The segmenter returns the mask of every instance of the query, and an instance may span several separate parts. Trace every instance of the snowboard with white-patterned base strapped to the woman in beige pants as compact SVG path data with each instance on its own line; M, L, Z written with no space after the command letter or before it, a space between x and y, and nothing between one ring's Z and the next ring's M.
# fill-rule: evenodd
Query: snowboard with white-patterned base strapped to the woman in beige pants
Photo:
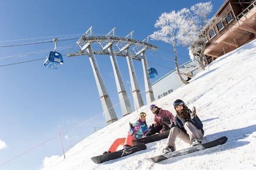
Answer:
M167 153L167 154L163 154L163 155L158 155L155 157L151 157L151 158L146 158L147 160L149 160L150 162L154 162L154 163L158 163L161 162L162 160L165 159L169 159L172 157L176 157L176 156L181 156L181 155L186 155L189 154L191 152L196 152L199 150L204 150L206 148L211 148L211 147L215 147L218 145L222 145L224 143L226 143L226 141L228 140L227 137L221 137L219 139L207 142L207 143L202 143L201 145L196 145L190 148L186 148L186 149L182 149L182 150L178 150L178 151L174 151L171 153Z

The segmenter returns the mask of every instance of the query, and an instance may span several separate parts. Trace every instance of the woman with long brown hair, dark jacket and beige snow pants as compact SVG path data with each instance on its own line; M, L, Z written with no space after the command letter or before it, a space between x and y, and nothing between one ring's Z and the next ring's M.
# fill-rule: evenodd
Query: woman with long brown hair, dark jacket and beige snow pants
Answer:
M175 139L177 136L190 143L191 146L195 146L202 143L204 135L203 124L196 114L195 107L190 111L180 99L175 100L173 106L177 115L174 118L174 123L171 124L167 147L163 150L164 153L175 151Z

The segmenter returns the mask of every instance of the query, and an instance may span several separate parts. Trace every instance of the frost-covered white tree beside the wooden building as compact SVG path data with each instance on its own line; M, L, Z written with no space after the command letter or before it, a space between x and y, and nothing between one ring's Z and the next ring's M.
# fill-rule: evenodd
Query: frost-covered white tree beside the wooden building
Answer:
M184 80L181 77L178 66L178 54L177 54L177 45L191 46L191 54L195 54L195 59L198 56L196 48L204 48L205 46L201 45L202 39L206 42L205 36L202 35L202 29L206 24L206 16L212 11L211 2L198 3L188 8L183 8L182 10L170 13L162 13L156 20L155 27L159 30L155 31L151 38L155 40L162 40L165 43L169 43L173 46L174 55L175 55L175 67L178 72L178 75L181 81L185 84L188 84L188 81ZM206 43L205 43L206 44ZM204 69L204 67L203 67Z

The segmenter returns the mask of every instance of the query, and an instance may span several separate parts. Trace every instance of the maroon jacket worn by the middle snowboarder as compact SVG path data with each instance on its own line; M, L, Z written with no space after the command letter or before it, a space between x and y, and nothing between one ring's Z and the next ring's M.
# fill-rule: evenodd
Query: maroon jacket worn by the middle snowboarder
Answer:
M174 116L169 111L163 110L162 108L158 108L158 109L159 109L159 112L158 112L158 114L155 114L154 124L155 124L155 126L163 126L162 130L160 130L160 133L161 133L161 132L164 132L164 131L170 129L169 126L163 122L163 117L170 119L171 123L173 123Z

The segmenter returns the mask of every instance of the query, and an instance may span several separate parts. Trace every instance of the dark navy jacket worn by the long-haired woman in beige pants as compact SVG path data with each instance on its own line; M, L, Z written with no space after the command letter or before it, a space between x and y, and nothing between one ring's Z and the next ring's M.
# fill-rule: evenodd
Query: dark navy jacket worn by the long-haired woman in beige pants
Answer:
M188 113L189 113L189 115L191 114L190 109L188 109ZM201 120L199 119L199 117L197 115L194 118L190 117L190 120L188 120L188 119L185 120L183 118L179 118L178 116L175 116L174 123L171 125L171 128L174 127L174 126L179 126L179 128L181 130L186 132L186 130L184 128L184 124L185 124L185 122L188 122L188 121L193 123L196 126L196 128L201 130L202 134L204 134L203 123L201 122Z

